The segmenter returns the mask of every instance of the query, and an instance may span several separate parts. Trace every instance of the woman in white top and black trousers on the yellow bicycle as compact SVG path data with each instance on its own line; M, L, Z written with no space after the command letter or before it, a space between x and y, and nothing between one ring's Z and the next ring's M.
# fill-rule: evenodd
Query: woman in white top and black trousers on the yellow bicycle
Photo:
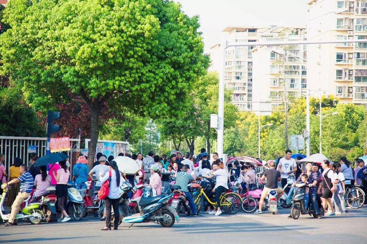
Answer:
M215 200L217 201L217 209L214 208L213 211L209 212L209 214L219 215L222 213L221 207L220 207L221 202L220 202L219 196L222 194L222 192L228 190L227 183L228 183L229 173L227 170L224 169L224 164L222 162L219 162L218 165L213 163L212 169L213 171L210 172L210 176L205 177L205 178L213 178L216 176L217 182L212 192L215 192Z

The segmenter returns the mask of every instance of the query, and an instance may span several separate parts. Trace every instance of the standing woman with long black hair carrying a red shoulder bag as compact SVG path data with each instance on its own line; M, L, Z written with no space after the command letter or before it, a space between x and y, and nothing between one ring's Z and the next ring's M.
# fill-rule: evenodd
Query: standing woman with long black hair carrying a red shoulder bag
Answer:
M106 227L101 230L110 230L111 229L111 206L113 207L113 212L115 214L115 226L114 230L117 230L117 227L119 226L119 202L120 202L120 180L121 180L121 174L119 171L119 168L117 167L117 164L115 161L111 161L110 163L110 169L109 171L102 176L99 176L99 180L102 182L105 182L110 178L111 175L111 181L110 181L110 192L108 193L108 196L105 199L105 207L106 207Z

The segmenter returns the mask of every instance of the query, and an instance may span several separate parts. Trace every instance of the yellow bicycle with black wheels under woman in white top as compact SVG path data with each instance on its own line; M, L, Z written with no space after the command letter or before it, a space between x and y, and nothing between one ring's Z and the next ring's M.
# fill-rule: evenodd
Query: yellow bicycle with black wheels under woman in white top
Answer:
M209 179L208 179L209 180ZM212 180L211 180L212 182ZM209 197L205 194L205 190L208 188L209 185L206 186L205 189L200 188L200 192L198 195L195 196L194 203L196 206L201 205L203 203L203 196L205 199L210 203L214 208L217 208L217 202L212 202ZM221 210L223 210L226 214L237 214L241 208L241 196L234 192L223 192L219 196L220 204L219 206Z

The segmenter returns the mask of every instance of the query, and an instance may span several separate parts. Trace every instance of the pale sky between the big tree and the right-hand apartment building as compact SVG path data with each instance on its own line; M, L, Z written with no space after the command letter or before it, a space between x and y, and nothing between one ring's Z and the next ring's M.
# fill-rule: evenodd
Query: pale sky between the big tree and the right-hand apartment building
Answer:
M205 52L224 40L227 26L306 27L306 0L174 0L188 16L199 15Z

